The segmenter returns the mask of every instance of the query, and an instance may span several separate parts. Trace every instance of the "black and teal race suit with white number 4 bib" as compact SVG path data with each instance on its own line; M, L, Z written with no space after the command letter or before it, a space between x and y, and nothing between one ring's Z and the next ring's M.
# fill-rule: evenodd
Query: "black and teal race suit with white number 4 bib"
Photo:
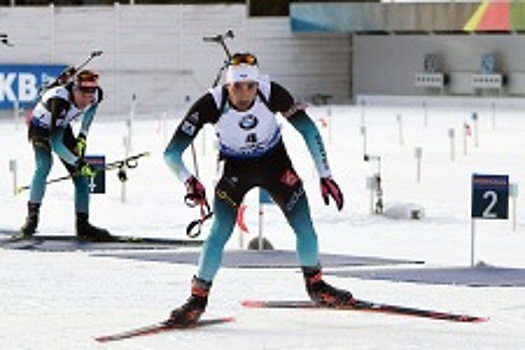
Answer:
M227 90L210 89L190 107L175 131L164 158L179 180L191 176L182 154L204 124L215 127L223 173L213 198L214 221L200 256L197 277L212 281L220 268L224 246L230 238L239 205L253 187L267 190L280 207L297 237L302 266L318 265L317 234L308 200L282 140L276 118L280 113L303 136L321 177L330 176L325 147L315 123L284 87L260 80L257 95L246 111L228 102Z

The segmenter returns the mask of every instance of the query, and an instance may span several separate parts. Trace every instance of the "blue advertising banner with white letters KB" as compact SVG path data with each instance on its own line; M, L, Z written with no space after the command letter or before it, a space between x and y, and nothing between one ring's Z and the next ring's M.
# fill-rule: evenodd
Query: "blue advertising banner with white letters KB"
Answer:
M39 89L67 68L64 64L0 64L0 109L31 106Z

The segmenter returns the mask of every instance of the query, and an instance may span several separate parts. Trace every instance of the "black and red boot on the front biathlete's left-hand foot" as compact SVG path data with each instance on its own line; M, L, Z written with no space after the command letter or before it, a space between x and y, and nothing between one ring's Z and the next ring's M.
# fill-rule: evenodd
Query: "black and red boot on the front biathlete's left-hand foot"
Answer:
M181 307L171 312L166 324L171 327L186 327L197 323L208 304L210 288L211 282L193 277L190 297Z

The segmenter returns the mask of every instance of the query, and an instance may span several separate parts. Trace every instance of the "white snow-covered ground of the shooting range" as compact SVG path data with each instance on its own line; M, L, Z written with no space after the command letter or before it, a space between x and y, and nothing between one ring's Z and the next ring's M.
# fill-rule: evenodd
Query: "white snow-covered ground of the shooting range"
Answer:
M342 212L324 206L306 148L283 122L285 140L307 187L322 253L425 261L417 268L469 267L472 258L476 264L525 268L521 196L516 200L517 214L510 220L476 221L471 254L472 174L504 174L511 183L525 183L525 123L519 110L334 106L330 112L321 107L310 112L322 129L334 177L346 200ZM479 115L477 124L473 112ZM466 142L465 122L473 133ZM119 159L125 153L124 138L131 135L131 153L150 151L151 156L129 171L125 198L115 173L107 174L107 193L92 196L94 224L115 234L185 238L186 225L198 212L184 205L183 186L162 159L176 124L175 117L135 118L129 133L125 121L99 116L88 153L104 154L108 161ZM13 195L10 169L16 162L17 185L29 183L33 160L25 132L21 122L0 121L0 230L16 230L26 214L28 193ZM199 172L210 193L216 179L214 145L213 129L208 128L195 142ZM381 159L385 203L401 209L423 208L421 220L371 214L367 178L378 163L375 158L363 161L364 152ZM57 160L50 178L63 174ZM48 187L40 232L72 232L72 194L69 181ZM259 230L257 200L255 191L246 199L250 233L243 247ZM264 237L276 248L293 250L294 235L279 211L268 205L264 210ZM208 227L209 223L205 230ZM240 245L235 232L228 249ZM244 309L243 299L306 298L302 276L298 269L229 268L222 269L214 281L205 317L234 316L237 322L98 344L94 336L165 318L188 296L195 267L91 253L0 250L0 348L521 349L525 344L523 287L326 276L361 298L490 317L487 323L457 324L361 312Z

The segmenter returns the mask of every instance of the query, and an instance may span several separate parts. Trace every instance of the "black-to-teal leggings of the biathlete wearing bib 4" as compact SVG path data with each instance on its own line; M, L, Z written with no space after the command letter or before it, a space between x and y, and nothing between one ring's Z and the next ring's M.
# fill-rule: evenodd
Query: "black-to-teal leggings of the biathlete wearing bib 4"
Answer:
M254 159L227 159L215 188L214 220L205 240L197 277L212 281L222 262L224 246L237 218L244 195L254 187L267 190L283 212L296 235L297 257L301 266L314 267L318 261L317 234L303 183L295 172L284 145Z

